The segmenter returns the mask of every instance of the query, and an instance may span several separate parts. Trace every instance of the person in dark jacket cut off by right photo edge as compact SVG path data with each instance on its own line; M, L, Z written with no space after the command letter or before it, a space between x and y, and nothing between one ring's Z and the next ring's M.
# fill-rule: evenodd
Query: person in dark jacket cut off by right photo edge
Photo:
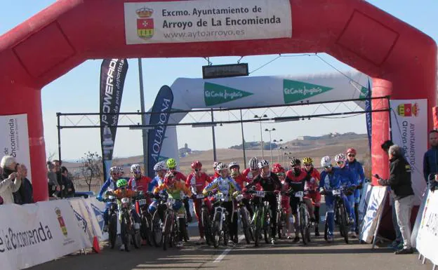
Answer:
M425 152L423 158L423 175L426 183L434 190L434 179L438 174L438 130L430 130L429 142L431 148Z

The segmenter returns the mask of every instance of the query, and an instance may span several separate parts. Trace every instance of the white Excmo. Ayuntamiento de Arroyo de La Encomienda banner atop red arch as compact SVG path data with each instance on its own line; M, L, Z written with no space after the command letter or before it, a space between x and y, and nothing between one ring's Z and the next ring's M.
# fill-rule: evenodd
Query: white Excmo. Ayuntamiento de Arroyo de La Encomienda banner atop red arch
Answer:
M125 3L124 14L126 44L292 36L289 0Z

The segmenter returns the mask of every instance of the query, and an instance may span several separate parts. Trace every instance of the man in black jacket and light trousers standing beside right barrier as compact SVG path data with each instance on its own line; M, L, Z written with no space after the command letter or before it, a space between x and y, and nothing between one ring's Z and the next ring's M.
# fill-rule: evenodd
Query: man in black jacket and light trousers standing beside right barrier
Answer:
M411 210L413 206L413 189L411 182L411 166L404 158L403 150L394 144L388 150L390 156L390 178L383 180L378 175L378 184L390 186L394 196L394 207L397 215L397 224L403 237L403 248L395 254L412 254L411 246Z

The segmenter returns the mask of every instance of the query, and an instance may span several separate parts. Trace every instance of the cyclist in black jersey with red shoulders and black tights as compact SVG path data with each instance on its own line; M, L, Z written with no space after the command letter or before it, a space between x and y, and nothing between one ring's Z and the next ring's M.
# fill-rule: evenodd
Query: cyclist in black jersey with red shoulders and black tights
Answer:
M291 170L288 170L286 173L286 182L289 185L289 188L295 193L297 191L304 191L305 182L310 180L309 175L307 175L306 171L301 168L301 161L298 158L292 158L291 160ZM316 222L314 217L314 210L312 205L312 200L308 197L303 198L304 203L307 205L307 210L310 215L310 222ZM300 241L300 220L298 219L298 203L300 203L300 198L296 198L295 196L291 196L291 210L293 216L295 217L295 238L293 239L293 243L298 243Z

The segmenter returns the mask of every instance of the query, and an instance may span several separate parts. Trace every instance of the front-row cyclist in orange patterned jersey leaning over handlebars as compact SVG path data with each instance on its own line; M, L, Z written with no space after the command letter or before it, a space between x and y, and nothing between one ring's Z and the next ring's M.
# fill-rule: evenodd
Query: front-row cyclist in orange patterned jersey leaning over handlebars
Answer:
M158 187L154 188L154 194L158 196L159 191L166 190L169 198L175 199L175 203L172 205L173 210L175 212L178 212L178 214L184 214L185 209L183 208L183 201L181 201L181 193L186 194L187 196L192 196L192 191L188 187L186 187L185 183L178 180L175 175L173 175L172 172L166 173L166 176L164 177L164 183L160 184ZM185 226L185 224L182 224L182 226ZM180 228L178 228L179 231L181 231ZM178 239L177 247L182 248L183 247L183 235L180 234Z

